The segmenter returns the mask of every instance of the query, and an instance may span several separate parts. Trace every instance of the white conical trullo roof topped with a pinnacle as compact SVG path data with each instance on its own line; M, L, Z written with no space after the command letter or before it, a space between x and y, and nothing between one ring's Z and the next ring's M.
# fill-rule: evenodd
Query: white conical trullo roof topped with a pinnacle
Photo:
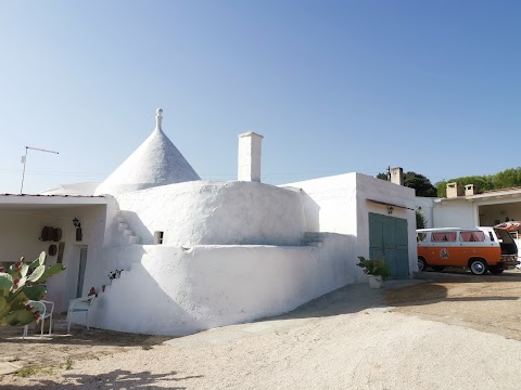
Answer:
M201 180L162 129L163 109L157 109L156 127L103 183L96 195L117 195L158 185Z

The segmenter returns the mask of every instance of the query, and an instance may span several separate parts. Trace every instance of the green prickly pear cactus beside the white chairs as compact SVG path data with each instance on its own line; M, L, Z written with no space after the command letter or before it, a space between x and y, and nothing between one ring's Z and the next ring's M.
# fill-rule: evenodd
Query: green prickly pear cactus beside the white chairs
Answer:
M65 270L62 264L46 268L46 252L33 262L21 258L8 270L0 266L0 326L24 326L39 321L40 313L29 300L40 300L47 294L43 283Z

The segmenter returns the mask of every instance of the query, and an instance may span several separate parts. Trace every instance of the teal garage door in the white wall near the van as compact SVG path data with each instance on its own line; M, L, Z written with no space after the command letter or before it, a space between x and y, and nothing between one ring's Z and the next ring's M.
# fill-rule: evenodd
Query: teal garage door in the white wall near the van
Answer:
M369 257L384 258L392 278L409 277L407 220L369 212Z

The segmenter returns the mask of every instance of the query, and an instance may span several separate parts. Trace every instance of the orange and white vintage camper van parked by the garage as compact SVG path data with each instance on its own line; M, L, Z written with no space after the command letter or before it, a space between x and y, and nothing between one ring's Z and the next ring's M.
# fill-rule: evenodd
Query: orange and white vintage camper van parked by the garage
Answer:
M431 266L469 268L474 275L500 274L519 264L518 247L510 233L495 227L419 229L418 270Z

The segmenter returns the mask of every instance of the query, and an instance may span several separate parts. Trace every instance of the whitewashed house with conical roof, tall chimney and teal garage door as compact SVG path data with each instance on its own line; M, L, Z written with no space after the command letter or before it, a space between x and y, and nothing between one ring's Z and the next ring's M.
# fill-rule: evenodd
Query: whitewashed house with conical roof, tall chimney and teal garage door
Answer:
M24 238L0 237L5 260L16 260L25 238L35 256L52 245L37 238L43 226L64 232L58 245L67 270L49 285L59 310L94 287L91 325L187 335L280 314L365 281L358 256L384 256L394 277L417 270L415 192L399 185L401 170L396 183L347 173L264 184L263 138L249 132L239 135L239 180L202 181L162 118L157 110L152 134L94 195L64 186L0 196L10 216L0 230ZM91 185L84 190L92 194ZM111 283L115 270L124 271Z

